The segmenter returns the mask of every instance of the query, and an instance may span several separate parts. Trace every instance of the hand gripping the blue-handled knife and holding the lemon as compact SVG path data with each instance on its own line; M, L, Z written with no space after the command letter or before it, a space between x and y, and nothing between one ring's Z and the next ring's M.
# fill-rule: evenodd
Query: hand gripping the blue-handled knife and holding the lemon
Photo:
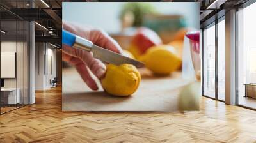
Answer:
M122 53L122 49L118 43L103 31L92 29L90 27L81 27L69 22L62 22L63 29L70 31L78 36L92 41L95 45L104 47L113 52ZM93 58L92 52L74 49L67 45L63 45L62 60L76 67L77 72L81 75L86 84L93 90L97 90L98 86L90 75L89 70L99 79L104 76L106 66L99 59Z

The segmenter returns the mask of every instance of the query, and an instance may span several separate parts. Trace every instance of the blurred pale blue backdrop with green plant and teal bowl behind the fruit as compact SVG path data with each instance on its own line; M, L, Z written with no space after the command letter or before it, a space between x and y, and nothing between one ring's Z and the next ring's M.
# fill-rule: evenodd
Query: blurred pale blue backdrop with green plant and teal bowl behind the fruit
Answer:
M173 41L184 28L199 29L198 3L63 3L63 20L104 29L123 49L137 27L155 31L163 43ZM124 37L125 36L125 37Z

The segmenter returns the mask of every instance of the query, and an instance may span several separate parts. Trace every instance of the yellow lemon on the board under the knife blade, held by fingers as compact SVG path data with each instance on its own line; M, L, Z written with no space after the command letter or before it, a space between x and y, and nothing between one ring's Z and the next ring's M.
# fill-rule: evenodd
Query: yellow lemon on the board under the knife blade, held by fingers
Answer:
M102 79L104 90L115 96L129 96L140 84L141 76L137 68L131 64L116 66L108 64L106 75Z

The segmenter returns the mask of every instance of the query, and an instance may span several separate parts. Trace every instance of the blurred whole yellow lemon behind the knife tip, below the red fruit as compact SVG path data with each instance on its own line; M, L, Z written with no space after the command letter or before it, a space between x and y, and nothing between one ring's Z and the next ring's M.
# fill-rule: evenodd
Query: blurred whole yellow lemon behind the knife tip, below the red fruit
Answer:
M177 50L170 45L157 45L151 47L139 58L145 66L157 75L168 75L178 70L181 59L177 56Z

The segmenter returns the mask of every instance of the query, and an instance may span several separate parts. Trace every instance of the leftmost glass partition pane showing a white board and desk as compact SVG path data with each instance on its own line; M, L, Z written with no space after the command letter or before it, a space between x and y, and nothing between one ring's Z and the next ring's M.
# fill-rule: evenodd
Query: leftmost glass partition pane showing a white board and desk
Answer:
M17 21L1 19L1 114L14 110L19 103L17 92ZM8 63L7 63L8 62ZM6 70L8 69L8 70Z

